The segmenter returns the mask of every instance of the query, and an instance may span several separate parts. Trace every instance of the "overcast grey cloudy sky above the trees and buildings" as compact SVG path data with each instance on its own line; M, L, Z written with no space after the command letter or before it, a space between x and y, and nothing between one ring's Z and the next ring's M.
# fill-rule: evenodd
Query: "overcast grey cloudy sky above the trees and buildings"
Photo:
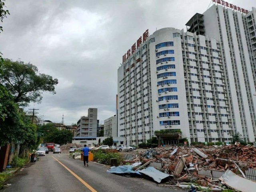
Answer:
M227 1L251 10L255 0ZM6 0L10 16L1 24L4 58L36 65L58 78L56 94L45 93L44 120L76 123L98 108L100 123L115 115L117 69L122 56L146 29L185 28L210 0ZM211 4L212 5L212 4ZM210 6L211 6L210 5Z

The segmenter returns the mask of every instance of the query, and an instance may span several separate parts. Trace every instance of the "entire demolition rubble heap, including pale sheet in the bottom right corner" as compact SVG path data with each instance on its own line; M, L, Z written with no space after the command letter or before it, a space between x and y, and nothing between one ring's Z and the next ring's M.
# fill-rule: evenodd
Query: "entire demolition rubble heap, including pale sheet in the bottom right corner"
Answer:
M244 189L248 186L256 188L256 182L248 180L244 175L244 170L256 169L256 148L250 145L241 146L237 143L236 145L201 146L200 148L193 146L160 147L137 154L126 154L125 157L128 157L124 160L125 164L127 162L142 162L149 166L154 166L154 163L160 164L161 166L157 167L158 170L172 176L168 183L180 188L190 188L191 182L199 184L201 188L211 188L215 191L221 191L226 186L245 192L250 192ZM214 181L212 178L200 175L200 170L216 170L225 172L225 174ZM235 180L234 184L230 183L231 178ZM190 184L187 185L184 182ZM244 185L237 185L238 182Z

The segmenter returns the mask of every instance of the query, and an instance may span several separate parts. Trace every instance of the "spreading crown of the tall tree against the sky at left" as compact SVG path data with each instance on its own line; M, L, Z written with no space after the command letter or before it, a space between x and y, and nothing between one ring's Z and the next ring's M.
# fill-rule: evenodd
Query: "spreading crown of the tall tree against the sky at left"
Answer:
M31 63L4 59L0 74L2 84L13 96L14 102L20 106L27 106L30 102L40 103L42 92L55 94L58 79L38 73L38 68Z

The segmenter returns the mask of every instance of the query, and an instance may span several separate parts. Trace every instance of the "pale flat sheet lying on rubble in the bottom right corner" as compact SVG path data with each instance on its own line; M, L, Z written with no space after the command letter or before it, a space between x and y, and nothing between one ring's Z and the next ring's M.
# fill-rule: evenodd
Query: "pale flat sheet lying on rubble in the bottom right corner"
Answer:
M242 178L231 170L227 170L219 180L223 181L226 185L242 192L252 192L256 189L256 182Z

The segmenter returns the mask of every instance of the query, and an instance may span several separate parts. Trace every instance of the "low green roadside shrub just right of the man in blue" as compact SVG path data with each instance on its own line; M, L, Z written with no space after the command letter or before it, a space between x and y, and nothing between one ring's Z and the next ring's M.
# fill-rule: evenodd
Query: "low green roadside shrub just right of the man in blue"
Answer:
M120 165L123 160L122 154L117 152L112 152L110 150L104 150L104 149L92 150L92 153L93 153L94 161L104 165L110 165L111 158L116 158L118 165Z

